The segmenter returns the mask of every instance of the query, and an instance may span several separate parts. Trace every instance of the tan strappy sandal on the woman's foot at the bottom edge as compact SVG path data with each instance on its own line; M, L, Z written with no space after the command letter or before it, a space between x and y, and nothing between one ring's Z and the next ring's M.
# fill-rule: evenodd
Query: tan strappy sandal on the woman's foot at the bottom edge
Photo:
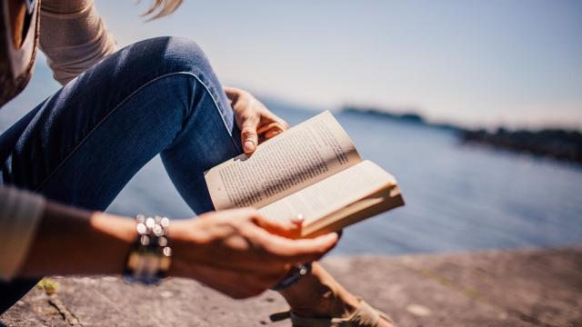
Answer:
M272 322L291 318L293 326L296 327L376 327L380 320L394 325L394 321L386 313L373 308L362 299L359 302L356 312L347 318L302 317L292 311L274 313L270 318Z

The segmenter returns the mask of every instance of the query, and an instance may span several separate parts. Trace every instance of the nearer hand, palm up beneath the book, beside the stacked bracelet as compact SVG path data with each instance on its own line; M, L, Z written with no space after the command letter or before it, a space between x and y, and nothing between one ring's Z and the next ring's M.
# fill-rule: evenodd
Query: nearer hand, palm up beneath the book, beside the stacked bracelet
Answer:
M300 223L273 223L250 208L175 221L170 275L196 279L236 299L258 295L296 263L316 261L336 245L336 233L293 240L299 230Z

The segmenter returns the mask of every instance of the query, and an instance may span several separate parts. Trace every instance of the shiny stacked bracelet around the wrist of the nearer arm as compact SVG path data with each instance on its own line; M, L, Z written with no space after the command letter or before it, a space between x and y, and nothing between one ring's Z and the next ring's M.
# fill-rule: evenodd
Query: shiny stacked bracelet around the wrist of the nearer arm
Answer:
M126 281L157 283L166 277L170 269L172 249L167 230L170 220L166 217L135 217L137 238L127 256L124 277Z

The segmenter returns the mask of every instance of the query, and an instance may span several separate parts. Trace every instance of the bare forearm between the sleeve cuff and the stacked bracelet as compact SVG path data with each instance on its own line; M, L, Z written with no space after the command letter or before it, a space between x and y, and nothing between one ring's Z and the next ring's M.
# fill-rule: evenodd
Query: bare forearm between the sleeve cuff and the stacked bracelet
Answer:
M47 202L19 275L119 274L135 235L132 219Z

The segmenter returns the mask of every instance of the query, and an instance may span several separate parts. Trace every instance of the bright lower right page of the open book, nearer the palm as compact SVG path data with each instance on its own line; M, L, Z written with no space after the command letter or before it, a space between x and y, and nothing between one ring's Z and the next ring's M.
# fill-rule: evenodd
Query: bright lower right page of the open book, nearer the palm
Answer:
M376 163L363 161L344 171L315 183L285 198L259 209L276 221L302 214L304 226L383 188L396 186L396 179Z

